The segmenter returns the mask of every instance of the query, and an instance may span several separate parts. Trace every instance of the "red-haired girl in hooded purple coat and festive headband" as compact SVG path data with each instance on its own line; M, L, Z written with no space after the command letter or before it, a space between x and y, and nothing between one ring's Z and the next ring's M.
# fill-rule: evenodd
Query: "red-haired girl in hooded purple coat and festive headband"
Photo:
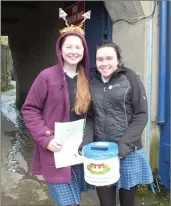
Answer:
M60 17L65 19L65 12L60 12ZM55 168L54 152L59 152L62 145L54 139L54 125L55 122L85 118L91 96L88 49L83 30L79 26L67 25L60 33L56 44L58 64L37 76L22 107L22 114L35 140L32 173L42 175L47 181L54 203L66 206L79 205L81 192L94 187L85 182L83 165ZM92 122L87 118L80 148L92 141Z

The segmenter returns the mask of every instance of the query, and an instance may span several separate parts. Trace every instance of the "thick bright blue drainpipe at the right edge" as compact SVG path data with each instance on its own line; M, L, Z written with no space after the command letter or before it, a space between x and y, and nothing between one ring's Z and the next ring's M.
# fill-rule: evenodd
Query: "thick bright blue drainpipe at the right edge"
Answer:
M160 36L159 36L159 92L158 92L158 119L157 123L165 123L166 101L166 46L167 46L167 1L160 1Z

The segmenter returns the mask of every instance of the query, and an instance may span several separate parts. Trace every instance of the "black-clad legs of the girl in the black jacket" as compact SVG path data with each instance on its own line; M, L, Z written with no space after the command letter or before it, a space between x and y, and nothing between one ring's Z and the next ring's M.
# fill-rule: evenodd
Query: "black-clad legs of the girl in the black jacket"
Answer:
M116 206L116 187L115 186L104 186L96 187L97 194L100 201L100 206ZM137 186L132 187L130 190L121 188L119 190L120 206L136 206Z

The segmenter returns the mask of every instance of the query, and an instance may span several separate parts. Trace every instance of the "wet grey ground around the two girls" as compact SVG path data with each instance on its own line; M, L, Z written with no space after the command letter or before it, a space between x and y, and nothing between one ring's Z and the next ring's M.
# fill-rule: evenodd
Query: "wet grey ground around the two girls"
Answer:
M33 141L15 108L15 89L1 94L1 145L1 205L53 205L46 182L30 173ZM140 189L137 204L169 206L169 198ZM95 191L84 193L81 205L99 205Z

